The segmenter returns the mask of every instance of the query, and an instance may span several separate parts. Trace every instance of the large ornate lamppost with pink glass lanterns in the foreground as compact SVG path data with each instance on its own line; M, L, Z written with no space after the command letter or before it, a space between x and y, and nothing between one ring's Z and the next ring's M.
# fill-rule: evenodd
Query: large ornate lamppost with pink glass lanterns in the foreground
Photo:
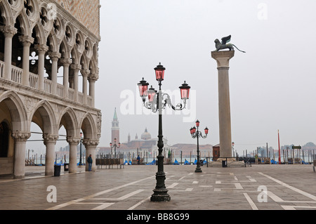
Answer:
M148 83L147 81L143 80L140 81L138 84L138 88L140 91L140 97L143 99L143 105L148 110L151 110L152 112L159 112L159 126L158 126L158 171L156 173L156 188L153 190L154 194L152 194L152 197L150 198L151 202L169 202L171 197L167 193L168 190L166 189L166 186L164 185L164 180L166 179L166 175L164 173L164 155L162 154L162 150L164 147L164 142L162 140L162 110L166 108L166 105L171 107L173 110L183 110L185 109L186 100L189 99L189 91L190 86L188 86L186 83L184 83L182 86L180 86L180 93L181 93L181 99L183 100L182 103L178 103L178 105L173 106L171 103L170 96L167 93L162 93L162 81L164 80L164 71L166 69L164 66L159 63L157 67L154 68L156 80L159 84L159 91L157 94L157 91L154 90L154 88L148 89ZM147 100L147 102L146 102Z

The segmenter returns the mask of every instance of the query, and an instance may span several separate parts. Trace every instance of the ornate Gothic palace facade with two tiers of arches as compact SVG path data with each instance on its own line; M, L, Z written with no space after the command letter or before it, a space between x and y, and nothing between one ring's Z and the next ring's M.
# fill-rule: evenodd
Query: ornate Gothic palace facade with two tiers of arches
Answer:
M70 173L77 171L81 131L87 157L95 161L101 132L94 102L99 8L99 0L0 0L0 174L24 178L32 122L43 133L46 176L54 172L62 126Z

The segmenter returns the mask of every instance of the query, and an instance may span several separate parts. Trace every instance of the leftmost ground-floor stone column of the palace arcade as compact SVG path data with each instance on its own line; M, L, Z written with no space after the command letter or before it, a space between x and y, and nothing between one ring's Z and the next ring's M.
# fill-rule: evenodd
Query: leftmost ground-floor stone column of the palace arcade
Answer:
M31 133L17 131L12 133L12 137L15 140L13 176L22 179L25 176L25 146Z

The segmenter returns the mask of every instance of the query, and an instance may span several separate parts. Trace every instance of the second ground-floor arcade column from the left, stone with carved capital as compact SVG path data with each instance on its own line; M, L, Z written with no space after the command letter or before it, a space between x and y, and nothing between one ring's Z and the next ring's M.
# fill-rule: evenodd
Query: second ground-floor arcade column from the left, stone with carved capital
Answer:
M46 145L45 176L53 176L55 161L55 145L58 140L58 136L43 135L43 138L44 145Z

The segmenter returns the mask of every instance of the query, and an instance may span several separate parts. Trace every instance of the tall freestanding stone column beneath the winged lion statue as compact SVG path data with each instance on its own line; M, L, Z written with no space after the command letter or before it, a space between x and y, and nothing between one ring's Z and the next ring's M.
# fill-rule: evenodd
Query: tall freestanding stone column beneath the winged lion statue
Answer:
M229 64L235 51L212 51L218 69L218 116L220 131L220 157L232 157L232 132L230 124Z

